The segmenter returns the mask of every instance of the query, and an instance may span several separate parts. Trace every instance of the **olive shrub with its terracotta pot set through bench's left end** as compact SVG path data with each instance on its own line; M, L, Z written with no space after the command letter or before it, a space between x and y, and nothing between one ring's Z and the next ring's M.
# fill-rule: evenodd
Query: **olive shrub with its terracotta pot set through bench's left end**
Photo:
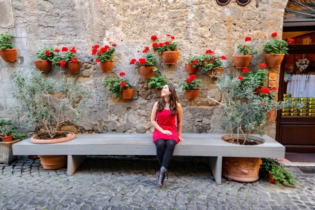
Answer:
M64 123L75 124L81 116L80 105L90 94L83 86L72 79L54 81L43 78L40 71L32 71L31 76L15 72L14 97L22 101L20 111L28 118L28 127L37 123L44 131L31 137L35 144L52 144L72 140L75 133L59 131ZM74 115L72 115L74 113ZM66 156L41 155L45 169L57 169L66 165Z

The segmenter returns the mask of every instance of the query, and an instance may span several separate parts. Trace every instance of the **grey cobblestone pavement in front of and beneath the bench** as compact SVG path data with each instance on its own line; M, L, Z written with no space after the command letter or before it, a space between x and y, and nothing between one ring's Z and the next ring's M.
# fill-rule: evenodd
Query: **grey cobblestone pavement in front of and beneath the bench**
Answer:
M315 174L293 171L300 184L266 179L216 185L205 158L176 157L160 188L153 157L89 156L73 176L45 170L26 156L0 167L2 209L315 209Z

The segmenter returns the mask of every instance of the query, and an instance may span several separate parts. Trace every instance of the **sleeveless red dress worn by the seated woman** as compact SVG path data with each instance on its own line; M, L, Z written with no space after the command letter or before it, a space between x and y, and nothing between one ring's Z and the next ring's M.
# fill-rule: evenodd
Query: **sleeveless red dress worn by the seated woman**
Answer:
M154 129L153 132L153 143L157 139L174 139L177 144L179 143L178 140L178 133L176 130L175 125L175 119L176 115L171 115L171 111L169 109L163 109L162 111L157 111L157 124L163 129L163 130L169 130L172 132L172 135L163 134L157 129Z

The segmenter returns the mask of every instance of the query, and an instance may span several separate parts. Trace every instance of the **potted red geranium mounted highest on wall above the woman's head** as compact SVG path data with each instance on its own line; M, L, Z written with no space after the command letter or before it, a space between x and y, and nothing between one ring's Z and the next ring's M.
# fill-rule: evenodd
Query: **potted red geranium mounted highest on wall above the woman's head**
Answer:
M151 40L154 42L152 47L159 54L162 54L162 58L165 64L174 65L179 57L179 51L177 51L177 43L174 41L175 37L169 34L166 35L170 38L169 42L156 42L157 36L153 35Z

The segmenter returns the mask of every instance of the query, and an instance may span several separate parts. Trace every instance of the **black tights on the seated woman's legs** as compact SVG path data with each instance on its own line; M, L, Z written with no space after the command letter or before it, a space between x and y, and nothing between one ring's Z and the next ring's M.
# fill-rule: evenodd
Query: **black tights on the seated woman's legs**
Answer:
M169 166L169 162L171 162L177 142L174 139L157 139L154 144L157 147L157 160L160 163L160 166L167 168Z

